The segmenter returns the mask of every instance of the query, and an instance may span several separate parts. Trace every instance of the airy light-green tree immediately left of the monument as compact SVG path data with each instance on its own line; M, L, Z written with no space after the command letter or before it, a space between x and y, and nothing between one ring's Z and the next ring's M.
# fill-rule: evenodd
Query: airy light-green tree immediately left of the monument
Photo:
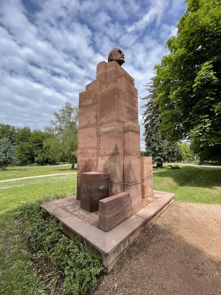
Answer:
M74 169L77 160L78 106L66 101L54 120L44 128L46 138L44 147L49 149L50 157L57 161L71 161Z

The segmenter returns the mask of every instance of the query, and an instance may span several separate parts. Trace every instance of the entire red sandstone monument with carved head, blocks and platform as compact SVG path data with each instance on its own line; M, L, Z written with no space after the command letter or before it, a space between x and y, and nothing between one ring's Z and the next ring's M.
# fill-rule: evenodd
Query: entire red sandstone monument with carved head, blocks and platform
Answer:
M153 190L152 158L140 156L138 92L123 63L112 49L79 94L77 195L41 205L101 253L107 273L174 200Z

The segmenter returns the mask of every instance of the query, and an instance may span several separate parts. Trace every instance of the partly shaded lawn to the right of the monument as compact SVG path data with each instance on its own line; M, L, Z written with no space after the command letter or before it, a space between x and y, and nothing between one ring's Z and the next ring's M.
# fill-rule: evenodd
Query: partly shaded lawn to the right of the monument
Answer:
M154 189L175 193L177 202L221 204L220 168L180 167L154 171Z

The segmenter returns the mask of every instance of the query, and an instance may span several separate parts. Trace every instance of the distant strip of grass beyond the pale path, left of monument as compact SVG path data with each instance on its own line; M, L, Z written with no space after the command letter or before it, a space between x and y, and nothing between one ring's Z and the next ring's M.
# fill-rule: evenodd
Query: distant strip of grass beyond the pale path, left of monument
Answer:
M55 166L29 166L27 171L21 170L18 171L18 168L23 168L24 166L11 166L8 167L6 171L0 170L0 180L22 178L28 176L39 176L47 174L56 174L56 173L70 173L77 172L77 164L75 164L75 169L71 169L71 164L65 165L55 165Z

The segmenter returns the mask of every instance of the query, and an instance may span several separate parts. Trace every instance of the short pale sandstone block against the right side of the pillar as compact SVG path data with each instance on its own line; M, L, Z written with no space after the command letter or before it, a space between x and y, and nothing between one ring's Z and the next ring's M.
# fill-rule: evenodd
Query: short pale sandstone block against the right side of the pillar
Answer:
M152 157L141 157L141 195L146 199L153 194Z

